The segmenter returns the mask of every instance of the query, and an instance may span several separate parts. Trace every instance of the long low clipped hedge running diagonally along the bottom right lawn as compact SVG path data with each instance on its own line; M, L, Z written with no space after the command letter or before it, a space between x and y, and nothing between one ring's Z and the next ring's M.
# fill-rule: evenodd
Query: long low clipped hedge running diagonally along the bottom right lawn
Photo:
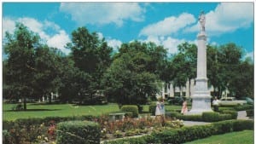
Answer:
M126 138L117 141L105 141L104 144L126 144L126 143L170 143L179 144L186 141L195 141L210 135L219 135L232 131L253 130L252 120L227 120L207 125L196 125L183 127L177 130L164 130L151 135Z

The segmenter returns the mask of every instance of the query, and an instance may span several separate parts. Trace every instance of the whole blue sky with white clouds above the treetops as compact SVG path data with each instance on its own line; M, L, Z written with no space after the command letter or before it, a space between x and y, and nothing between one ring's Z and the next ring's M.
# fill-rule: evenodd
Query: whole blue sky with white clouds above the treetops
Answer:
M15 22L28 26L49 46L69 52L71 33L79 26L114 49L133 40L163 45L169 54L177 44L196 43L198 15L207 16L208 43L236 43L253 57L253 3L3 3L4 32L14 32Z

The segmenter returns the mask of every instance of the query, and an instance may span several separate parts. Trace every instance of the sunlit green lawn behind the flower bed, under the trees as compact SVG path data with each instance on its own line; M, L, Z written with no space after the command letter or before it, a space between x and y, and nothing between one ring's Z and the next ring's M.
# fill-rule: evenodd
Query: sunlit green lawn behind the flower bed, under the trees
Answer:
M99 116L102 113L117 112L119 107L115 103L96 106L76 106L73 104L27 104L27 111L12 111L16 104L3 104L3 120L15 120L17 118L45 118L92 115ZM166 110L181 109L182 106L166 105ZM148 105L143 106L143 113L148 112Z

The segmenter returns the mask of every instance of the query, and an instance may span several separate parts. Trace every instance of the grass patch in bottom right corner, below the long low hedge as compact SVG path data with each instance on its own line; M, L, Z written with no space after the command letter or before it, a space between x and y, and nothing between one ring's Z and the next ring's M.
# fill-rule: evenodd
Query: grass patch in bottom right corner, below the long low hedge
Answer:
M213 135L211 137L190 141L185 144L253 144L253 130L232 132L224 135Z

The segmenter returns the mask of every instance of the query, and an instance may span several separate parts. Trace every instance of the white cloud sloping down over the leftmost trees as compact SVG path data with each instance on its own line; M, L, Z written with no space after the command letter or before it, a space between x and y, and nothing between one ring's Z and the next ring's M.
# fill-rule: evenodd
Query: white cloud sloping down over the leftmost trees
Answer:
M41 39L49 45L49 47L54 47L61 49L62 52L68 54L69 49L64 48L66 43L71 42L67 33L64 30L61 30L60 26L56 25L54 22L44 20L43 22L35 20L33 18L19 18L19 19L10 19L3 18L3 37L5 37L5 32L14 33L15 31L15 22L23 23L27 26L32 32L38 33ZM51 33L48 33L51 32Z

